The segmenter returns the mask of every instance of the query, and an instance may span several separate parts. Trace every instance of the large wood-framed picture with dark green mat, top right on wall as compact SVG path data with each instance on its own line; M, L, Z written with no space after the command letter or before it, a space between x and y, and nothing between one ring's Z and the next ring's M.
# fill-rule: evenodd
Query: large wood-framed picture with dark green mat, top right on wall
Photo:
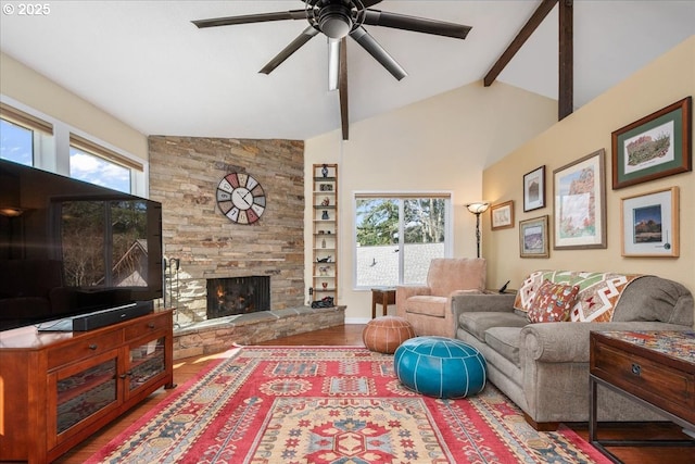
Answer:
M612 133L612 189L693 171L687 97Z

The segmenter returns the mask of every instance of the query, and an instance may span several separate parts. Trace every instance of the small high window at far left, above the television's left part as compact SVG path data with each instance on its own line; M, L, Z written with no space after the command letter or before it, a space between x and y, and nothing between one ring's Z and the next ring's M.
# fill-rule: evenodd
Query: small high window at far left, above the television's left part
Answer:
M45 147L51 147L53 127L27 113L0 104L0 158L35 166Z

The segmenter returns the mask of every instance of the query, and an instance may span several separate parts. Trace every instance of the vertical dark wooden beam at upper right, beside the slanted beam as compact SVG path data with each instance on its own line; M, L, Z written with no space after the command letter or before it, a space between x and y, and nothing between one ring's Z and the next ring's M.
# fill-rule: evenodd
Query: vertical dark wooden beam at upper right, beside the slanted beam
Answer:
M573 1L559 0L557 121L574 111Z

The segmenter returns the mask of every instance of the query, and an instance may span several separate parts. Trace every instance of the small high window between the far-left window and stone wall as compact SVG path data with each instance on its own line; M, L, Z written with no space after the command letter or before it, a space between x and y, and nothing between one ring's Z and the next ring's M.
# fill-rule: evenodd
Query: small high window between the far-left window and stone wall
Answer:
M142 165L71 134L70 176L72 178L130 193L130 175L134 168L142 171Z

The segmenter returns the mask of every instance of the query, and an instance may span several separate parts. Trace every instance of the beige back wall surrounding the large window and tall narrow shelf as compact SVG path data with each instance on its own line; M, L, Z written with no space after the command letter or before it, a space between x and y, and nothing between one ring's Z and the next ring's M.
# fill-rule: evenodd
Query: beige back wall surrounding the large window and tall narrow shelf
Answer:
M475 216L464 204L482 197L482 170L557 121L555 101L497 83L471 84L416 104L306 140L305 197L311 166L339 165L339 294L348 322L371 316L371 293L354 291L355 191L451 191L454 256L475 256ZM305 211L305 281L311 283L312 214ZM492 280L492 286L502 283ZM309 285L309 284L307 284ZM308 299L308 296L306 297ZM393 309L392 309L393 310Z

